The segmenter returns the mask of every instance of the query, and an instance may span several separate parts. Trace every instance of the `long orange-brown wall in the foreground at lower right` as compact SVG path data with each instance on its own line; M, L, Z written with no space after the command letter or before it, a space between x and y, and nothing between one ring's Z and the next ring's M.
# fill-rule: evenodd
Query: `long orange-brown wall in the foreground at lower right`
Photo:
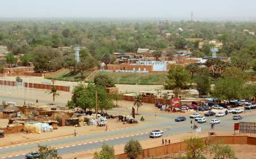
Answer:
M222 141L224 144L249 144L256 145L256 137L249 136L209 136L202 138L204 141L209 141L210 143L216 143L217 141ZM138 158L156 157L163 156L165 154L177 153L184 151L187 148L185 141L180 143L174 143L170 145L162 145L160 147L154 147L149 149L144 149L143 154ZM129 159L126 154L115 155L115 159Z

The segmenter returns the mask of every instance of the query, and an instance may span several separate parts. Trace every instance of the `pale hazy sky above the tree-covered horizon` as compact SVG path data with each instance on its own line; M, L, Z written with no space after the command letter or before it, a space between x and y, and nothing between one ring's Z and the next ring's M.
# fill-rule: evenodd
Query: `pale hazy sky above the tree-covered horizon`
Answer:
M255 17L256 0L0 0L0 17Z

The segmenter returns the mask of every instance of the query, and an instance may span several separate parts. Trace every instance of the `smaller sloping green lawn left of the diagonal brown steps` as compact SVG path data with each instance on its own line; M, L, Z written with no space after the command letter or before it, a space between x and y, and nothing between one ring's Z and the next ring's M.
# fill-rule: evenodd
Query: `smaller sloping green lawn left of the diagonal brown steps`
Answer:
M88 77L93 71L92 70L85 70L84 72L84 78ZM71 74L68 69L65 69L55 75L46 77L49 80L60 80L60 81L82 81L84 78L81 77L81 74L79 72L76 72L75 74Z

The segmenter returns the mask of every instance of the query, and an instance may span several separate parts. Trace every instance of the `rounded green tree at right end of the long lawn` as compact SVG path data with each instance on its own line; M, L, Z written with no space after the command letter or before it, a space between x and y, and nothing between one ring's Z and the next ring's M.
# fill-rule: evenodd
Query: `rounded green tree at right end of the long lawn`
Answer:
M168 80L166 81L166 85L164 87L166 89L175 89L179 87L181 89L185 89L190 81L189 72L183 66L174 66L168 71Z

